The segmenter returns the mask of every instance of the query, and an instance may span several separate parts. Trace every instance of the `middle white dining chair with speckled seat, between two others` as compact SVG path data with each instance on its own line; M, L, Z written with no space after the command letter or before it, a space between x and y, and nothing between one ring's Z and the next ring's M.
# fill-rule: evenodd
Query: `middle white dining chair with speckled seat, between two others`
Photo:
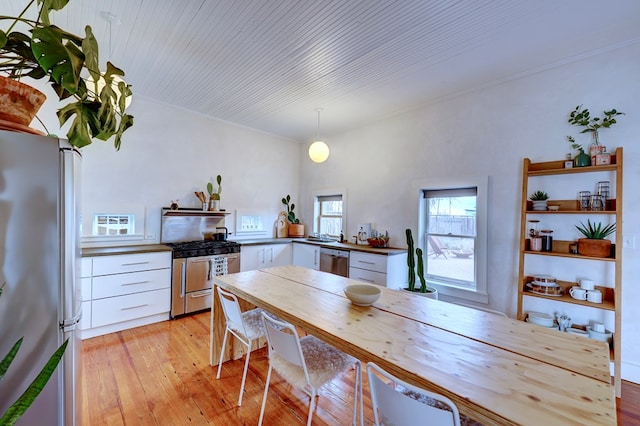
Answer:
M364 424L362 408L362 364L360 361L339 349L323 342L317 337L307 335L298 337L296 328L284 321L262 314L269 348L269 370L264 387L260 420L262 425L269 393L271 372L276 370L292 386L302 389L311 398L307 426L311 425L316 406L318 389L355 366L355 384L353 395L352 425L356 424L356 413L360 405L360 424Z

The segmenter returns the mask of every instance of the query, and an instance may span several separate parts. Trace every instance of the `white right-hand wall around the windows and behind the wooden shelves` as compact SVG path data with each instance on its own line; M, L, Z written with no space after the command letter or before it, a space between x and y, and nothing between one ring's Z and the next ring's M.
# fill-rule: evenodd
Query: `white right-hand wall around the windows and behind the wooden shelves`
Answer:
M391 245L404 246L404 229L417 229L414 180L488 175L490 305L513 316L523 158L563 159L571 152L569 134L588 146L588 135L567 123L576 105L594 112L624 111L600 139L610 151L625 150L623 232L635 236L636 248L623 250L623 376L640 382L640 326L634 312L640 302L638 57L640 46L621 48L325 137L329 160L301 171L300 216L311 216L314 191L346 187L345 235L354 235L357 223L373 222L389 230ZM302 162L308 161L305 155Z

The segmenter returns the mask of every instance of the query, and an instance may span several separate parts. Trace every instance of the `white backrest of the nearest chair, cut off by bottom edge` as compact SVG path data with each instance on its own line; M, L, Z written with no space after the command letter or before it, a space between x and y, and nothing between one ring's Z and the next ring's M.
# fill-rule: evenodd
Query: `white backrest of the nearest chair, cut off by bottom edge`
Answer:
M372 362L367 364L367 376L376 425L460 426L460 413L450 399L412 386Z

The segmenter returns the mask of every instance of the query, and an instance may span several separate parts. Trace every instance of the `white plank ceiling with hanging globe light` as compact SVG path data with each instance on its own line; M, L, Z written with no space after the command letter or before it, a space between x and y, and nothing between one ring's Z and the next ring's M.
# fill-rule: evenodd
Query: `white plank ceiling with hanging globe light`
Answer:
M638 43L640 1L71 0L54 22L91 25L134 102L309 142L316 107L327 136Z

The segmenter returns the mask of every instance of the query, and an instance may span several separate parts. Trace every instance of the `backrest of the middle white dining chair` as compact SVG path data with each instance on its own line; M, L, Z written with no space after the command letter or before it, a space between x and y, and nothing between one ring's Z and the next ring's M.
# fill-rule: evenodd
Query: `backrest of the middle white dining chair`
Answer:
M307 383L309 383L309 373L307 372L307 365L304 361L296 328L288 322L278 321L264 312L262 312L262 322L267 335L269 357L277 355L285 361L302 368Z

